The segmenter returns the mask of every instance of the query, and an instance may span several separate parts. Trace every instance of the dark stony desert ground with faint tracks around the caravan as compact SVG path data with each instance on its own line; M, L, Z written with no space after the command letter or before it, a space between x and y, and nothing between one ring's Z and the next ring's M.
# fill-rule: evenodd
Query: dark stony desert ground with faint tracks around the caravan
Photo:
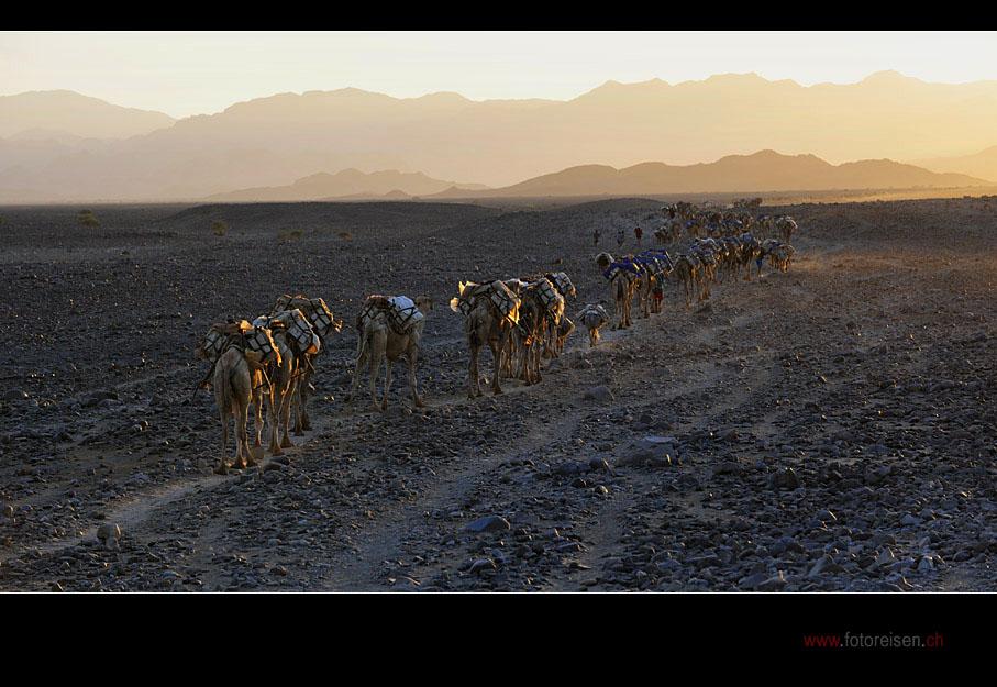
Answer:
M660 206L0 208L0 590L993 590L997 198L756 209L798 221L789 272L669 286L467 398L458 281L564 270L569 318L611 308L591 231L633 251ZM284 293L344 320L314 429L215 475L195 343ZM370 293L436 299L424 410L403 365L346 407Z

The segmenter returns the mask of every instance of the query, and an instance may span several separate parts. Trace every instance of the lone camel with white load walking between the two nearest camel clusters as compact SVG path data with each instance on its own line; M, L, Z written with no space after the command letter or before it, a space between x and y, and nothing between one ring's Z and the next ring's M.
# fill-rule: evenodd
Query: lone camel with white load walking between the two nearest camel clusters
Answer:
M361 369L363 369L365 362L370 367L370 400L374 403L374 410L384 412L388 409L388 395L391 391L391 366L402 356L405 356L409 366L409 389L412 391L412 401L417 408L425 408L425 402L419 397L419 390L416 388L416 361L419 356L419 343L422 340L422 332L425 328L425 315L433 309L433 300L427 296L419 296L412 301L422 317L405 330L405 333L396 330L397 324L392 323L388 308L381 302L388 300L381 296L369 297L365 301L365 309L357 317L359 337L356 347L356 367L353 372L353 388L347 401L351 410L354 409L356 388L359 384ZM368 304L372 306L369 310L367 309ZM377 306L384 307L377 308ZM365 317L365 311L370 314ZM386 367L385 394L384 398L378 402L374 383L377 378L377 373L380 370L381 362L385 363Z

